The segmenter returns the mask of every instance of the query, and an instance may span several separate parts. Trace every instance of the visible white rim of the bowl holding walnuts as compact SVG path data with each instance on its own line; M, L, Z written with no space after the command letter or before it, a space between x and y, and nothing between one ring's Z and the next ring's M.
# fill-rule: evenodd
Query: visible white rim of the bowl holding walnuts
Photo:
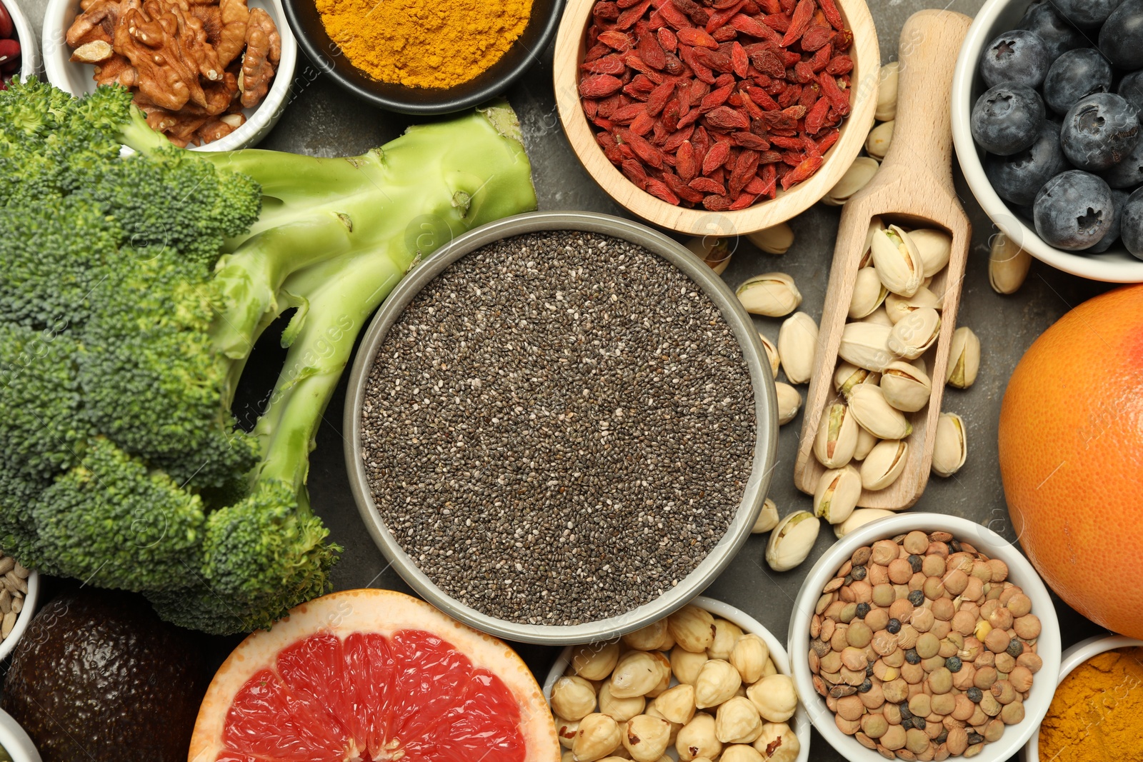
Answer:
M62 90L72 93L72 95L75 93L72 91L67 79L69 67L85 66L86 64L72 64L69 61L71 54L64 41L65 29L59 29L56 21L64 16L74 1L48 0L43 14L42 34L45 75L49 82ZM297 66L297 40L286 21L286 11L281 0L265 0L265 3L273 11L274 26L278 27L278 33L281 35L282 47L281 58L278 61L278 69L274 71L274 81L270 86L270 91L241 127L214 143L187 146L191 151L235 151L253 147L270 131L270 127L278 121L282 110L289 104L287 96L293 88L294 71Z

